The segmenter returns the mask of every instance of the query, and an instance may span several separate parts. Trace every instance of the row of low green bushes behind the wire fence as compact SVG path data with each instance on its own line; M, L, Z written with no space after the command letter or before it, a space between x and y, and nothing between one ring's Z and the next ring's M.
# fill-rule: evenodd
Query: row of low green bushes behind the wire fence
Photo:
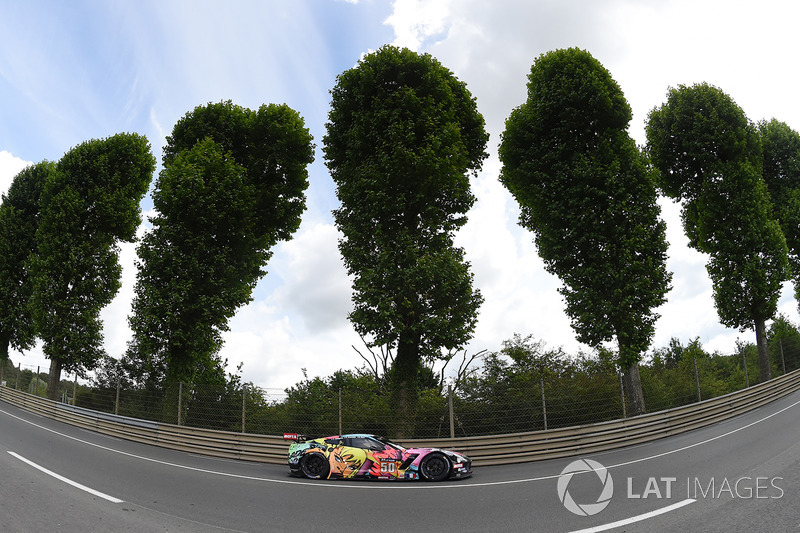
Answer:
M785 352L786 370L800 368L800 332L784 317L770 327L772 345ZM778 355L779 357L779 355ZM550 349L532 336L514 335L497 352L485 354L480 368L471 372L454 391L455 432L459 436L525 432L616 420L623 410L618 354L599 349L567 354ZM639 366L644 394L651 411L697 401L697 381L703 400L746 386L745 367L753 383L758 369L756 346L738 343L737 353L706 352L699 339L684 345L678 339L653 351ZM773 360L782 372L780 359ZM95 386L78 387L78 405L143 419L163 418L162 409L176 410L178 387L145 389L126 381L119 363L108 360ZM697 368L697 374L695 374ZM10 380L14 380L12 372ZM420 374L431 373L420 370ZM304 371L305 374L305 371ZM22 388L30 387L32 372L23 370ZM102 377L101 377L102 376ZM122 387L116 405L116 380ZM10 381L9 386L14 386ZM71 391L71 383L63 383ZM64 387L62 387L62 390ZM387 434L399 416L386 377L376 379L367 368L339 370L327 377L307 376L286 389L283 398L267 395L235 375L217 375L216 381L183 387L182 421L193 427L242 430L242 408L248 433L307 435L344 433ZM544 396L543 396L544 395ZM243 405L244 403L244 405ZM437 380L421 387L414 437L449 436L447 391ZM175 415L173 414L173 418Z

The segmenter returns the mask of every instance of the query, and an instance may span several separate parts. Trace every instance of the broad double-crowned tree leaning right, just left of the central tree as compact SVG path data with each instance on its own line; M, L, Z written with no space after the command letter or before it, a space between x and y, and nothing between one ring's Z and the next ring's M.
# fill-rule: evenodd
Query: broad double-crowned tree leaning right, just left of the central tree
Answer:
M287 106L187 113L167 138L139 246L128 359L149 383L216 380L222 332L300 223L311 135Z

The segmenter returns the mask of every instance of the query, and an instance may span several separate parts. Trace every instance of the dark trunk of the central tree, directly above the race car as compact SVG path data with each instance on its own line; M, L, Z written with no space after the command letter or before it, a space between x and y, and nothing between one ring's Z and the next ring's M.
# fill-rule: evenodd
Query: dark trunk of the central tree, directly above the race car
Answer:
M408 439L414 436L419 396L417 387L419 363L419 341L401 335L392 369L392 405L395 408L395 416L391 424L392 436L396 439Z

